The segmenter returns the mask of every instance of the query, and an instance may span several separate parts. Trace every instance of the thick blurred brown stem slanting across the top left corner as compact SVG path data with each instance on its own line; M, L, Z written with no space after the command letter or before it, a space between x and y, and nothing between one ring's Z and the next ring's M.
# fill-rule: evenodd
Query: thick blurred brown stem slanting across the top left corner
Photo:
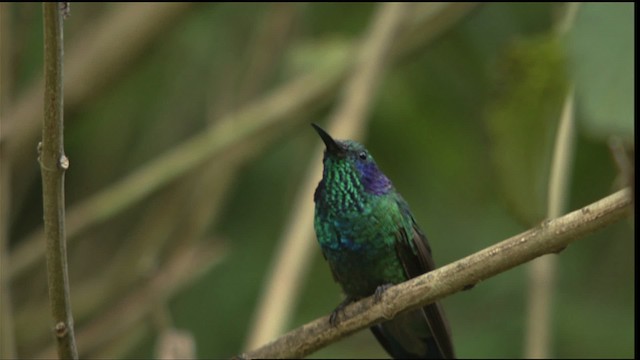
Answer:
M131 71L132 60L145 53L168 26L184 14L192 3L123 3L82 29L82 34L67 46L65 106L72 112L81 104L99 96L108 86ZM33 144L37 142L42 109L33 106L42 96L43 82L36 80L12 103L3 119L0 143L6 142L6 156L16 165L13 184L14 201L22 201L28 184L36 175L29 163ZM4 104L3 104L4 106ZM73 117L71 118L73 119Z

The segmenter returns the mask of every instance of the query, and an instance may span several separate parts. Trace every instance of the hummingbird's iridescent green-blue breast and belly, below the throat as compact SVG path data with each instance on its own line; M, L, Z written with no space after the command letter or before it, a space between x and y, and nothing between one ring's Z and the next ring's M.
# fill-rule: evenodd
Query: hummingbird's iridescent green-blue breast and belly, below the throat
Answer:
M333 275L352 297L407 280L397 257L400 229L411 228L393 193L369 195L350 208L316 203L315 230Z

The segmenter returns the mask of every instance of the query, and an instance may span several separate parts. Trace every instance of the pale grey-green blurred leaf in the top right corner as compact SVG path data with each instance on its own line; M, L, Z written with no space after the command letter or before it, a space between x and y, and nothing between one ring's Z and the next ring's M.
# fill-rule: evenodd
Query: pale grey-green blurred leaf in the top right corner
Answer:
M567 38L578 121L592 136L633 140L634 4L583 3Z

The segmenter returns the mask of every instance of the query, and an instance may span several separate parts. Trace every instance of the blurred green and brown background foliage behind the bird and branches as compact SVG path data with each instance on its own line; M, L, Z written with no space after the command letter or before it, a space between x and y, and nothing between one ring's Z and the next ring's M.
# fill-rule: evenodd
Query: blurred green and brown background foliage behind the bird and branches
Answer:
M569 209L628 183L610 144L622 144L633 165L633 6L583 4L559 37L562 3L481 4L394 57L365 142L411 204L437 264L544 218L555 129L572 83ZM296 189L313 165L319 139L309 123L323 123L340 88L328 85L286 120L266 125L252 128L229 114L307 73L343 78L335 74L347 69L375 7L72 4L65 22L66 202L68 214L80 208L78 221L89 224L68 230L82 357L148 358L167 329L185 330L199 358L243 350ZM1 232L12 267L42 222L39 130L29 137L16 125L40 121L16 109L41 111L42 14L37 3L4 3L1 11ZM99 204L144 194L113 215L79 207L220 123L218 133L241 135L197 166L151 190L143 182L122 197L107 193ZM27 140L14 146L19 136ZM625 220L558 256L554 356L633 356L633 235L633 220ZM341 299L316 250L289 328L328 314ZM11 299L3 322L13 324L3 328L3 346L12 331L20 357L46 357L53 345L38 259L2 289ZM460 357L523 355L527 280L518 267L443 300ZM385 356L368 331L312 355Z

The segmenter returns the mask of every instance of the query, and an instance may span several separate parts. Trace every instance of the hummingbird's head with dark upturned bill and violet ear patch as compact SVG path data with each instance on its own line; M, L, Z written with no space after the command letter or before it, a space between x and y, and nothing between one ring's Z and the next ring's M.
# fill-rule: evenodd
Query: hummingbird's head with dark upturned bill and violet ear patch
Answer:
M326 147L322 175L325 185L335 183L340 189L364 190L374 195L383 195L392 189L391 181L362 144L353 140L335 140L318 125L311 126Z

